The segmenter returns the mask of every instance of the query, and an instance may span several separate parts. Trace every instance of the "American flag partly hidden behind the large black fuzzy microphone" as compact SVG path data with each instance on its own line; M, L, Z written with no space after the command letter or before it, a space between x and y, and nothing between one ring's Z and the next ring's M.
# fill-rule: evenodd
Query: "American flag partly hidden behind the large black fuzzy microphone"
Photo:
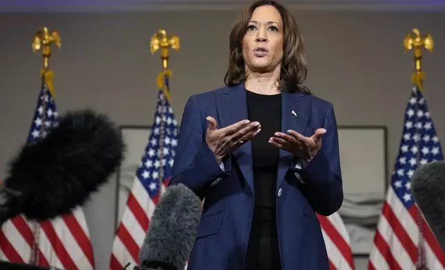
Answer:
M48 80L53 76L51 71L44 74ZM53 90L42 76L28 143L45 136L57 123ZM68 270L94 269L93 249L84 212L79 207L72 214L44 222L31 222L24 216L7 220L0 230L0 260Z

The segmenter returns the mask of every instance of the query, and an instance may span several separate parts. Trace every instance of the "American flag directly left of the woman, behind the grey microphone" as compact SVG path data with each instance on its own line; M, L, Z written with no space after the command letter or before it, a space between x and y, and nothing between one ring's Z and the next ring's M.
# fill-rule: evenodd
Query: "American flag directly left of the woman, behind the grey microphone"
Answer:
M111 253L111 270L139 265L139 251L149 228L153 210L171 179L171 168L178 145L178 123L169 101L168 76L164 76L149 141L135 174L126 209L117 227Z

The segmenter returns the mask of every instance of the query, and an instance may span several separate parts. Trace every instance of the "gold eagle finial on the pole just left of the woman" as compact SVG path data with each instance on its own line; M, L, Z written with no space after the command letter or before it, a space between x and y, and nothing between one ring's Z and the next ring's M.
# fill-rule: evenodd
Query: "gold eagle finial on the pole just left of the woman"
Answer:
M178 36L173 34L169 38L167 37L167 32L165 32L165 30L163 29L160 29L158 30L158 32L155 32L155 34L153 34L153 36L151 37L151 42L150 42L151 54L155 54L156 51L161 50L161 60L164 70L167 70L169 66L170 47L179 52L180 43Z

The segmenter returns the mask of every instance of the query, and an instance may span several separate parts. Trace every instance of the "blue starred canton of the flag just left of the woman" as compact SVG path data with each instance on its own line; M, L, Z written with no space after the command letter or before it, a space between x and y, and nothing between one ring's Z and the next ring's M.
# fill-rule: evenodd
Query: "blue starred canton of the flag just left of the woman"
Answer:
M168 89L168 79L164 81ZM145 147L137 175L150 198L159 196L171 179L171 169L178 145L178 123L164 90L158 92L158 102L149 143ZM162 183L162 185L160 185Z

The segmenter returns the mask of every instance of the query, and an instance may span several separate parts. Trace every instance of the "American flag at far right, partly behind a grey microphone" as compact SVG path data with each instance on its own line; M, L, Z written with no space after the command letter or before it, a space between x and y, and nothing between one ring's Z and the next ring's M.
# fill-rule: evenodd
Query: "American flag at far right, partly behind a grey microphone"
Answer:
M417 166L443 158L425 98L418 87L413 87L368 269L444 269L445 253L410 191L410 178Z

